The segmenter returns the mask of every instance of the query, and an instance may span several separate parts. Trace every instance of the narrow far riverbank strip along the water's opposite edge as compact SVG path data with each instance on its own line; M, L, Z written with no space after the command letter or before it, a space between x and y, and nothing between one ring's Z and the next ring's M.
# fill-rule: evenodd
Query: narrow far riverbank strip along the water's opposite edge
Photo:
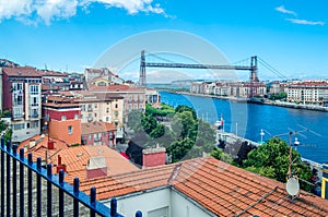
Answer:
M260 99L257 99L257 98L249 99L249 98L233 97L233 96L215 96L215 95L208 95L208 94L192 94L192 93L189 93L189 92L176 92L176 91L168 91L168 89L163 89L163 92L173 93L173 94L180 94L180 95L187 95L187 96L199 96L199 97L208 97L208 98L218 98L218 99L223 99L223 100L233 100L233 101L237 101L237 103L270 105L270 106L284 107L284 108L328 112L328 107L316 106L316 105L302 105L302 104L293 104L293 103L286 103L286 101L272 101L272 100L269 100L269 99L260 100Z

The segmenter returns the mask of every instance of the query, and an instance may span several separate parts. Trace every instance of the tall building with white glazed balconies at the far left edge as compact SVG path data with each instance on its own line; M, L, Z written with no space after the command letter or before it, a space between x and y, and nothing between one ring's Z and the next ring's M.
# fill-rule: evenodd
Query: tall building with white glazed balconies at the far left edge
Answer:
M1 110L11 111L13 143L40 132L42 76L35 68L0 68Z

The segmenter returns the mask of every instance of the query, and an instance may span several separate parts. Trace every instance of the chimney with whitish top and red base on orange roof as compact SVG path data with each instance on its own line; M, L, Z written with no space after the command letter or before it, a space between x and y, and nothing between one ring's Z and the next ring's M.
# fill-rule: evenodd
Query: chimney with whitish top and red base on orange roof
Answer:
M107 165L105 157L91 157L86 165L86 179L107 176Z

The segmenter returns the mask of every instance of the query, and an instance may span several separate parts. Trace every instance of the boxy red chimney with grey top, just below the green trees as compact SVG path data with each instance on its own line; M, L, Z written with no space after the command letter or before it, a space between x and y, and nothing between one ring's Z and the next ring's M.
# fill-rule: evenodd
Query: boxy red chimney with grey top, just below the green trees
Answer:
M142 150L142 166L143 168L156 167L165 165L166 160L165 147L147 148Z

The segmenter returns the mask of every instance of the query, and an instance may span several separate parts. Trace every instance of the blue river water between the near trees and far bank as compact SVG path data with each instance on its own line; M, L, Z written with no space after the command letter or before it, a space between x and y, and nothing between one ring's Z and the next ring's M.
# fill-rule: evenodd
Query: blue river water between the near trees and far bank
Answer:
M210 97L188 96L160 92L162 103L177 107L191 106L197 116L214 123L224 119L224 130L238 136L260 142L271 136L289 141L293 132L302 157L317 162L328 162L328 112L291 109L269 105L256 105ZM263 130L265 135L260 135Z

